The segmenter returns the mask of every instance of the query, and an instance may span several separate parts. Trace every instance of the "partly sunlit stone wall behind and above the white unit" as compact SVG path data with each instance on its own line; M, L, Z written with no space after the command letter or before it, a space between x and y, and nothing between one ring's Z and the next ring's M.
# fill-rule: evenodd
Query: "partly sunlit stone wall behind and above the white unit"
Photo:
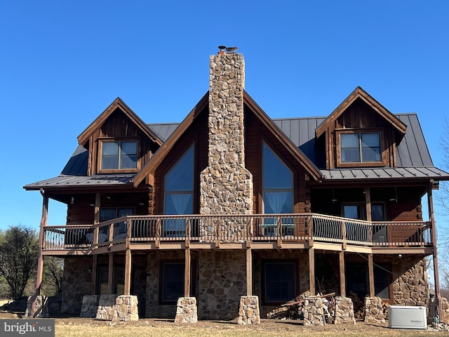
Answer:
M429 305L426 259L394 258L392 272L395 305ZM410 267L411 266L411 267Z

